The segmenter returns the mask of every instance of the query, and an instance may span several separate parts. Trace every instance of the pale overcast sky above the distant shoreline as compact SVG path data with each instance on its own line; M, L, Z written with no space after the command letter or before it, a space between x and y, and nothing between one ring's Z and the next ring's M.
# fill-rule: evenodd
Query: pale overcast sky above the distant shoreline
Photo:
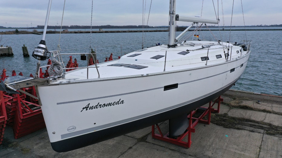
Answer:
M146 0L94 0L92 26L95 25L142 25L143 1ZM193 2L196 3L193 3ZM178 0L176 14L182 16L200 16L215 19L214 6L211 0ZM216 2L216 0L214 0ZM145 24L150 9L147 0ZM224 0L223 9L219 2L220 25L230 26L232 1ZM281 0L242 0L245 25L282 24ZM91 0L66 0L62 25L91 25ZM215 4L217 13L217 4ZM64 0L53 0L48 25L61 25ZM48 0L1 0L0 26L36 27L45 24ZM222 17L224 12L224 19ZM201 13L202 11L202 13ZM169 0L153 0L149 26L168 26ZM234 0L232 25L243 26L241 0ZM178 26L188 26L177 22Z

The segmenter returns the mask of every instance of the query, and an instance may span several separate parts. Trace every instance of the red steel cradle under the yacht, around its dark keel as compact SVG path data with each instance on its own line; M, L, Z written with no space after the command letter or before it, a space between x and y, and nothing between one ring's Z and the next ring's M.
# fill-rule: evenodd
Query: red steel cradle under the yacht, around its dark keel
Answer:
M204 107L201 106L200 108L197 108L196 110L193 110L190 112L190 114L187 115L187 118L189 119L189 126L187 128L187 130L181 134L180 136L178 136L176 139L170 138L169 137L169 133L163 135L161 132L161 129L159 127L158 124L156 124L157 129L159 131L160 134L156 134L155 133L155 125L152 125L152 138L154 139L158 139L158 140L162 140L168 143L172 143L181 147L185 147L185 148L190 148L191 147L191 133L195 133L195 126L198 123L203 123L203 124L210 124L211 122L211 112L216 112L219 113L219 109L220 109L220 102L223 101L223 98L221 98L221 96L219 96L213 104L212 101L209 102L209 107ZM217 102L217 109L214 109L213 106L214 104ZM200 110L203 110L204 112L199 116L199 117L193 117L193 115ZM207 120L204 120L204 116L207 115ZM183 141L184 137L186 137L188 135L188 140L187 142Z

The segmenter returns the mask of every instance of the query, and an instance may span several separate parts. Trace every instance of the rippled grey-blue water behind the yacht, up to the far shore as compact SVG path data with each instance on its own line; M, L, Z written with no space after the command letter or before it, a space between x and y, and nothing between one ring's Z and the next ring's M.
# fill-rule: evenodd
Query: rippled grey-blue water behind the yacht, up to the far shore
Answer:
M179 34L178 32L177 34ZM221 34L220 34L221 33ZM246 40L245 31L214 31L217 40L240 42ZM282 52L279 49L282 40L282 31L246 31L247 40L252 40L252 54L249 59L246 71L231 89L239 89L250 92L265 93L282 96ZM220 38L220 35L223 37ZM154 46L156 43L168 43L168 32L150 32L145 36L145 47ZM213 35L208 31L200 33L200 37L206 40L214 40ZM16 73L22 72L24 76L30 73L35 74L37 60L34 59L32 51L41 40L41 35L35 34L13 34L2 35L1 45L11 46L14 56L0 57L0 70L7 70L7 75L12 75L12 70ZM57 50L59 34L47 34L46 44L48 50ZM91 40L91 42L90 42ZM22 46L28 47L30 57L23 57ZM60 40L61 53L85 53L89 52L90 45L97 50L99 62L104 62L105 57L113 53L113 58L121 56L142 48L142 33L101 33L101 34L62 34ZM122 52L121 52L122 50ZM80 56L73 55L78 59L79 66L86 66L86 61L80 60ZM65 65L68 61L65 57ZM46 65L47 61L41 62ZM211 81L212 82L212 81Z

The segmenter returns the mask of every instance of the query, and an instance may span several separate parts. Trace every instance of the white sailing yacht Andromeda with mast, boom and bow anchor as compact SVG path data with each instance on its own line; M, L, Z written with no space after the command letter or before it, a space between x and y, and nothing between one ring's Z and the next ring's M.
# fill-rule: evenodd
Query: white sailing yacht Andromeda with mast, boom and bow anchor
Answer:
M177 15L174 0L170 2L169 16L168 44L136 50L118 60L68 72L59 60L65 54L48 51L44 33L32 56L38 59L37 72L40 61L49 57L58 59L52 61L53 74L45 79L12 76L18 78L1 82L2 89L16 93L22 92L22 87L35 85L51 146L57 152L187 116L235 84L247 66L251 42L199 38L180 41L194 24L218 24L219 21ZM176 21L192 24L175 37Z

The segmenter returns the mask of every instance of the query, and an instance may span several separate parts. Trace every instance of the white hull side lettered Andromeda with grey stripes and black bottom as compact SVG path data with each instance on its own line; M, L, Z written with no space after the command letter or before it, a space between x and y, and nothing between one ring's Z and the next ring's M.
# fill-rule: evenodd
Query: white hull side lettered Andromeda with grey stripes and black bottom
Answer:
M38 85L52 148L74 150L188 113L234 85L249 56L152 75Z

